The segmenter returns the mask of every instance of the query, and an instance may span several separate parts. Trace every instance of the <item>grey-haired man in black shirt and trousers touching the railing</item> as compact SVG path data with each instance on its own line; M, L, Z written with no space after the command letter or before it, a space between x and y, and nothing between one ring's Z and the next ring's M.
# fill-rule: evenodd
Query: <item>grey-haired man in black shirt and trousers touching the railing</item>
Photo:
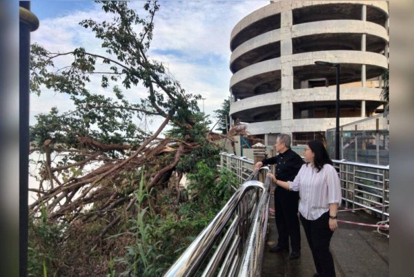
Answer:
M276 139L275 150L279 153L271 158L265 158L257 162L255 168L263 165L275 164L276 176L281 181L293 181L300 167L304 164L302 158L290 149L290 136L279 134ZM270 247L270 252L288 252L289 238L290 259L294 260L300 256L300 227L297 216L299 192L288 191L282 187L275 188L275 220L277 233L277 245Z

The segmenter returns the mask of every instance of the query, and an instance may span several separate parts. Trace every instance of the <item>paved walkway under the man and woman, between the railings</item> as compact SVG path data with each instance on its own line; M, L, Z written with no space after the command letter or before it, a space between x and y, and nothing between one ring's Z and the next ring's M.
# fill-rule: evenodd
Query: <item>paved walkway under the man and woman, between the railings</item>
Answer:
M270 205L273 206L273 196L270 201ZM363 211L339 212L338 219L370 224L375 224L381 220L375 219ZM339 229L335 231L331 240L331 252L335 260L336 276L388 276L388 238L378 234L375 227L350 225L348 223L338 223L338 225ZM277 229L273 215L269 216L269 227L262 276L313 276L315 266L302 225L302 256L299 260L289 260L288 254L268 251L269 246L277 243Z

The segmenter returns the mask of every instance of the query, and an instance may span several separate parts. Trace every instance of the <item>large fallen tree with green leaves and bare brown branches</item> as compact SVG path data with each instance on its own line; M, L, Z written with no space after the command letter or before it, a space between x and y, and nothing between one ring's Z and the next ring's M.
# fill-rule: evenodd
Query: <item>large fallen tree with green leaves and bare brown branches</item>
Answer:
M86 19L79 24L101 40L106 55L88 52L82 47L61 53L32 45L32 92L41 94L44 86L67 94L75 107L65 113L53 107L48 114L39 114L37 123L31 127L34 149L46 153L41 167L41 187L48 183L49 190L38 191L42 196L30 207L36 212L45 205L52 218L68 218L68 212L75 211L79 205L95 203L84 203L83 199L99 194L95 187L101 183L121 183L122 172L140 165L157 165L147 167L150 170L146 177L152 179L149 187L165 185L181 156L206 144L206 134L197 133L204 131L197 127L200 96L186 93L162 63L148 57L153 19L159 10L157 1L144 4L148 17L140 17L128 8L126 1L97 2L106 13L113 15L112 21ZM72 63L57 68L57 60L66 56L72 57ZM100 76L101 89L110 90L112 97L88 89L92 75ZM119 87L120 83L123 88ZM145 98L138 103L126 100L123 90L133 92L139 88L146 89ZM154 134L137 127L137 120L146 116L164 118ZM187 132L186 136L157 139L168 123ZM174 141L175 151L155 159ZM63 158L54 166L52 156L57 153ZM97 165L96 162L101 166L86 174L84 167ZM80 195L79 189L83 190ZM67 201L66 207L59 203L63 200ZM72 215L77 217L77 213Z

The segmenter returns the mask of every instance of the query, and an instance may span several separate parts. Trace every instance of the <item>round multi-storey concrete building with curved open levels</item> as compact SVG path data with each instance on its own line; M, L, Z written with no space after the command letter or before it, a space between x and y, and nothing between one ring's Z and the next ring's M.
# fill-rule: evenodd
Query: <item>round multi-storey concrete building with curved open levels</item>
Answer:
M387 1L270 1L239 21L230 37L230 116L267 145L294 143L335 127L339 63L340 125L378 112L388 68Z

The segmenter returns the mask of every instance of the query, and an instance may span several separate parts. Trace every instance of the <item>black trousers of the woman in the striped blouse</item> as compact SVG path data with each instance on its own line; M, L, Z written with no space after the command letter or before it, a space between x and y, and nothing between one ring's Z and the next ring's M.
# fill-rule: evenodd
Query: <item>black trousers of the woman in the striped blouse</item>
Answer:
M329 212L322 214L316 220L307 220L301 214L300 220L312 251L317 273L324 277L335 277L335 266L329 251L329 243L333 235L329 229Z

